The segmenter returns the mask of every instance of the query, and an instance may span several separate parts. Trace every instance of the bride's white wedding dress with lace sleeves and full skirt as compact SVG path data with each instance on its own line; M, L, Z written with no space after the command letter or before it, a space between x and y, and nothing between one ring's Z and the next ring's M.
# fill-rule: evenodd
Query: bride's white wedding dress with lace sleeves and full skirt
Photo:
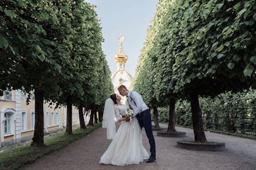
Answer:
M129 109L126 105L117 105L117 120ZM141 129L136 117L131 122L122 122L109 148L101 156L99 163L118 166L139 164L149 155L142 145Z

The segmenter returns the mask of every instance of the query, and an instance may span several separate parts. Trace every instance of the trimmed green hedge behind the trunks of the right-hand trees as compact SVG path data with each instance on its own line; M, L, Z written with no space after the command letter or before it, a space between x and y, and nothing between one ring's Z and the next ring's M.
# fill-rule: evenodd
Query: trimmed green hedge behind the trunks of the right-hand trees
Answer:
M205 129L228 132L256 132L256 91L226 92L214 99L200 98ZM168 122L168 108L159 108L161 122ZM186 100L176 103L176 123L193 126L190 103Z

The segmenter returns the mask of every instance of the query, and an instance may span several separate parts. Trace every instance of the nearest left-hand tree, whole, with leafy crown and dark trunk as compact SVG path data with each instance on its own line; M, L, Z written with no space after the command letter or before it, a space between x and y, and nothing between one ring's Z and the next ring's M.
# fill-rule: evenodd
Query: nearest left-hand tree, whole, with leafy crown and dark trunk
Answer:
M11 63L6 67L11 67L12 63L17 65L17 69L12 69L14 74L9 74L12 74L10 77L18 77L18 81L7 79L8 84L14 89L35 91L35 131L32 144L44 145L42 102L44 98L49 99L51 95L59 92L53 81L55 74L60 71L60 66L56 64L58 57L53 55L53 49L57 48L58 43L47 30L50 25L58 25L57 11L48 1L2 1L1 7L5 13L2 16L5 17L6 26L6 33L1 34L8 35L8 47L3 55L8 56L7 63Z

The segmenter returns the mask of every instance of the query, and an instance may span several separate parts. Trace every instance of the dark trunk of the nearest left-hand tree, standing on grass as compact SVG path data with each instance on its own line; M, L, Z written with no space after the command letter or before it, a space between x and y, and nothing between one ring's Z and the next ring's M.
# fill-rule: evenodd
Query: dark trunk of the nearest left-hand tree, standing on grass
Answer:
M44 146L44 95L35 89L35 127L31 145Z

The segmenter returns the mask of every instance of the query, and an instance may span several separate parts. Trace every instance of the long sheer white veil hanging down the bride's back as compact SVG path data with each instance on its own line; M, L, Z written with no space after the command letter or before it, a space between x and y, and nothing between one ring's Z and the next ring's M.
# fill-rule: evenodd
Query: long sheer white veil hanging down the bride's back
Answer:
M104 112L102 117L102 128L106 128L106 138L113 139L116 134L115 124L115 103L112 99L107 99L104 105Z

